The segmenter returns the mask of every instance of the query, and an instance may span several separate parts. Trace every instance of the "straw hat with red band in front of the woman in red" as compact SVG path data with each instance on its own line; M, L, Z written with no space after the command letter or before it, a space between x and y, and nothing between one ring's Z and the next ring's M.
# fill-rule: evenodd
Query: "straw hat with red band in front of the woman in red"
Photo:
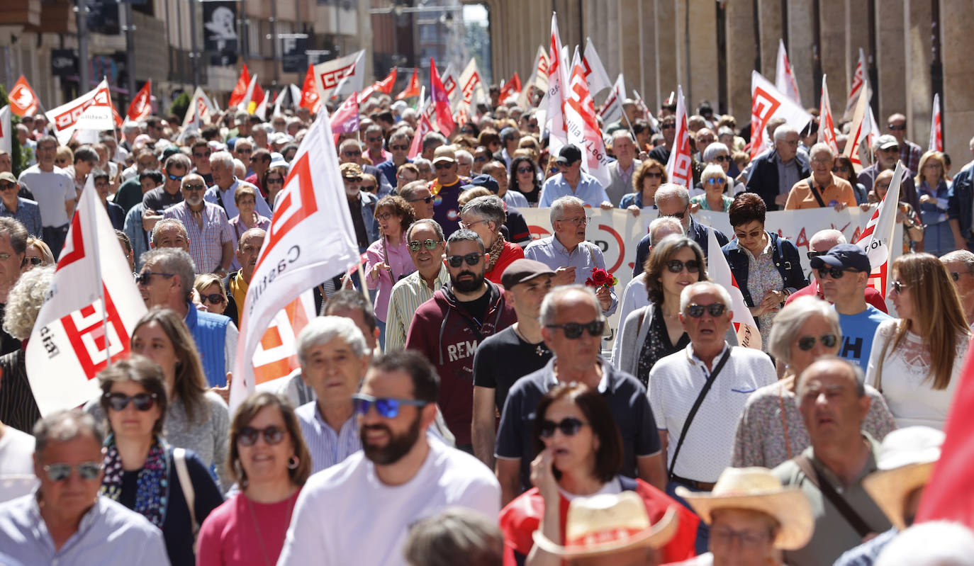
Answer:
M581 558L629 548L661 548L676 534L677 511L670 507L659 522L650 524L646 504L633 491L618 495L579 497L568 508L565 546L535 531L535 545L564 558Z

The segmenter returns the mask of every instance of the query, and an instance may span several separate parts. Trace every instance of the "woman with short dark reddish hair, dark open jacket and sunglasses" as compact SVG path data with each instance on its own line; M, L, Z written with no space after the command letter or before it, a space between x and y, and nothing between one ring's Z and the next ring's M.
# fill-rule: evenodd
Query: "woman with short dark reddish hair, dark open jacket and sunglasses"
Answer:
M728 210L734 239L721 248L758 323L767 350L774 315L789 295L808 284L798 248L765 230L768 208L755 193L741 193Z

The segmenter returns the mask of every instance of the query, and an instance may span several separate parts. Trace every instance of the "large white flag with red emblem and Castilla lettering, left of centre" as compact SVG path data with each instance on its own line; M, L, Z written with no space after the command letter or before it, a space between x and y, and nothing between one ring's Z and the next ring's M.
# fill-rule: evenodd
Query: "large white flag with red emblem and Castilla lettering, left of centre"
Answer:
M247 289L230 385L231 412L254 391L254 353L281 308L357 261L341 177L330 118L322 109L291 161Z

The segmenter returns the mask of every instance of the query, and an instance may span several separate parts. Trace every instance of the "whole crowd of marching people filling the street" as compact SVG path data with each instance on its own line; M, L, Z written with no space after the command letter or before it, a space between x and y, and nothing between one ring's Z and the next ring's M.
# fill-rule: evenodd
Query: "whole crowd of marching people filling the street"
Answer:
M233 412L247 288L315 117L153 116L92 145L23 117L22 170L0 152L0 563L972 563L966 527L913 522L965 378L974 161L952 178L899 114L858 172L817 121L770 121L749 159L749 128L702 103L684 187L675 104L627 99L603 185L491 94L412 159L417 110L362 103L334 180L362 265L318 282L299 369ZM800 251L766 218L873 210L897 162L890 313L841 231ZM88 185L148 311L96 398L42 416L24 349ZM624 289L586 239L592 208L657 216ZM763 349L738 344L711 238Z

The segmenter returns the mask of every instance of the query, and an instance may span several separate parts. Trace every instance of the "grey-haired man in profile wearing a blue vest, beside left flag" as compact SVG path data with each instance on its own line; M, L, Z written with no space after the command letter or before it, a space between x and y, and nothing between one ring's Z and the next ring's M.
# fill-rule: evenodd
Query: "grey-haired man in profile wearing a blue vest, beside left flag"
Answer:
M237 326L230 317L197 310L189 301L196 266L182 250L158 248L142 254L142 270L135 278L145 306L170 308L189 328L210 387L226 387L227 371L237 356Z

